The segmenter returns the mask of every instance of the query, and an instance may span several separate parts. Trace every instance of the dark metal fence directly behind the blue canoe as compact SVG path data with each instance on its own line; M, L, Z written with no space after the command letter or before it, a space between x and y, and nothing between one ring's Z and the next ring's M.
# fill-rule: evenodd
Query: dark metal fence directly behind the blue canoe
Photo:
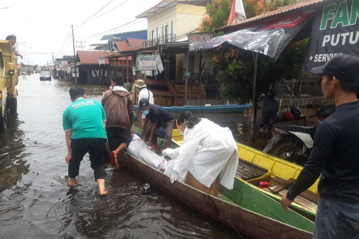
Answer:
M187 98L198 100L222 100L220 88L222 84L215 79L214 73L190 72L187 85ZM183 73L183 81L185 73Z

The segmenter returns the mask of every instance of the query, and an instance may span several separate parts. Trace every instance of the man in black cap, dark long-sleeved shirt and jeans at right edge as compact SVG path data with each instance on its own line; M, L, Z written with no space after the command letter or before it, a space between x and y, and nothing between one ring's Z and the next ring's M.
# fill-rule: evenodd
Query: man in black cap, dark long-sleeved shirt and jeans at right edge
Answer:
M289 211L321 176L313 238L359 238L359 58L337 54L311 72L322 75L323 93L336 110L318 125L311 155L280 203Z

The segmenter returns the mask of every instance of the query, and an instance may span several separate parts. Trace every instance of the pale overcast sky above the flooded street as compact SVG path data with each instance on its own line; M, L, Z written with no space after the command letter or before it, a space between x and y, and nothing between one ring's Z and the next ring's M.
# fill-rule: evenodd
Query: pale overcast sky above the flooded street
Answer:
M76 43L76 40L86 41L83 45L86 45L84 49L88 49L90 44L106 43L107 41L100 41L103 35L147 29L146 19L138 19L123 27L120 26L135 20L135 16L160 1L0 1L0 20L3 23L0 29L0 39L5 39L10 34L16 35L19 52L25 54L25 59L29 59L31 64L42 65L47 61L52 61L52 52L55 58L64 54L73 54L71 24L74 24L75 44L80 45ZM9 8L1 9L5 7ZM101 8L103 9L100 10ZM109 12L106 13L107 11ZM92 16L93 14L95 15ZM88 21L81 25L86 19ZM117 29L106 33L114 28Z

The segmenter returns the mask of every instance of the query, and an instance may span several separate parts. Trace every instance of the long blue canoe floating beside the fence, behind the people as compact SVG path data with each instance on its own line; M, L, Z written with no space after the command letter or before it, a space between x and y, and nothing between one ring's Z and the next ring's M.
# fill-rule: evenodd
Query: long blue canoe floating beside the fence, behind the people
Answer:
M182 112L190 111L191 113L243 113L244 110L248 110L250 105L211 105L211 106L171 106L163 107L168 112ZM137 111L138 105L134 106L134 111Z

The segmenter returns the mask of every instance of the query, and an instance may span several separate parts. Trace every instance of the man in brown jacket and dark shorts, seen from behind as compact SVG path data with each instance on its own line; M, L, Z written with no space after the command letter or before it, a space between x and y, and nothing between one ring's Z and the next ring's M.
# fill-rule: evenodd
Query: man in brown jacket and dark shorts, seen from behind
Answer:
M127 148L132 141L131 125L134 101L123 83L123 75L115 74L111 78L112 89L102 95L101 104L106 113L106 132L110 149L111 165L119 168L117 154Z

